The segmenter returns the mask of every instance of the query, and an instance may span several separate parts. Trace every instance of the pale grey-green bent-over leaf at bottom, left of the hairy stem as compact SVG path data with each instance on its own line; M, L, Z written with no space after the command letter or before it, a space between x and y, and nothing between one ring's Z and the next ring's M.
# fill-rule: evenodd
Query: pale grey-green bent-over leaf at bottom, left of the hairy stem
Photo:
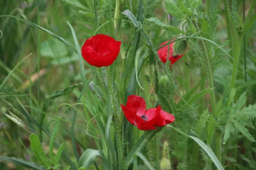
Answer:
M78 167L88 168L95 161L96 156L101 156L99 150L87 149L79 159Z

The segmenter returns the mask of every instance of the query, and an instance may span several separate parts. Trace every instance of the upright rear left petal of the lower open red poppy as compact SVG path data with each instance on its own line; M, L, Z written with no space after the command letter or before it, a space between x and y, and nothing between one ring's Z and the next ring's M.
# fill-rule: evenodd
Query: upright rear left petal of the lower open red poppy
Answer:
M137 116L142 116L146 111L146 102L141 96L128 96L126 107L136 111Z

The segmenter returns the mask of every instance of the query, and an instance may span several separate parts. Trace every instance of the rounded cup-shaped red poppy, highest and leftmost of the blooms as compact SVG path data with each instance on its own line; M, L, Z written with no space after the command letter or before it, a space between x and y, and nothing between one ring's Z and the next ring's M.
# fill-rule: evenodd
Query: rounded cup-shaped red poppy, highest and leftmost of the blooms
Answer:
M102 67L111 65L120 51L120 41L104 34L90 37L82 46L82 56L93 66Z

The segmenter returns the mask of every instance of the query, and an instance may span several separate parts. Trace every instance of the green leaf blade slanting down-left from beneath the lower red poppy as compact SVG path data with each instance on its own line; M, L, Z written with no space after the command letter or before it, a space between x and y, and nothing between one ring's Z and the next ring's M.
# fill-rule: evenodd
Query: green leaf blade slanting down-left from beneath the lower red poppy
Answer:
M148 139L146 139L145 134L143 134L143 136L140 137L139 141L133 146L131 151L126 156L125 167L129 167L129 165L134 159L134 154L136 154L136 152L141 152L145 148L148 140L150 140L157 132L160 132L161 130L162 130L162 127L158 127L155 130L148 130L146 132Z

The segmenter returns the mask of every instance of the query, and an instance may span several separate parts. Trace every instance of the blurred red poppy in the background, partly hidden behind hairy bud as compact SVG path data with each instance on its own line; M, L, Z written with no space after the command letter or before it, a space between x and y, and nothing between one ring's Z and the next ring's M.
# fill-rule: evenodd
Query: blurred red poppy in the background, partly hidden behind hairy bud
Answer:
M173 40L171 40L171 41L173 41ZM169 42L171 42L171 41L169 41ZM168 43L168 41L163 42L160 46L165 45L166 43ZM183 56L183 54L181 54L181 55L175 54L175 52L173 51L173 44L174 44L174 42L157 50L159 58L161 59L161 61L163 63L167 62L168 46L169 46L169 61L171 61L170 65L174 64L178 59L180 59Z

